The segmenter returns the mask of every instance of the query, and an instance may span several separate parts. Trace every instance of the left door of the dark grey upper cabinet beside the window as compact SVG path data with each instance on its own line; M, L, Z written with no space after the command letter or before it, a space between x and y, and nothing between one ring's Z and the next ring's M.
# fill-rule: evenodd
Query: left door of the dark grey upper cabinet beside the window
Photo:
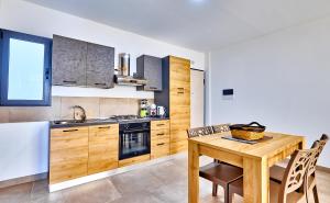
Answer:
M53 84L86 86L87 43L54 35Z

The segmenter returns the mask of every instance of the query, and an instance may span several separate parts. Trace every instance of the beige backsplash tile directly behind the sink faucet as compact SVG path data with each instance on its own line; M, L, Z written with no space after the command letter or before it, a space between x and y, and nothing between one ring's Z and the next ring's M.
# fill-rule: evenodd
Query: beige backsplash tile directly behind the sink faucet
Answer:
M87 119L95 119L100 116L99 98L62 98L61 101L62 119L74 119L74 105L82 106L86 110Z

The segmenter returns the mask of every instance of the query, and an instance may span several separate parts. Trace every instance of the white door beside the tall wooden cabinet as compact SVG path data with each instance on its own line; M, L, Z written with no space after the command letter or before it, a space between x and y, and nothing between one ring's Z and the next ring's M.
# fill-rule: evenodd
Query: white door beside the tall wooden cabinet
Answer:
M205 124L204 113L204 71L191 69L190 71L190 86L191 86L191 127L202 127Z

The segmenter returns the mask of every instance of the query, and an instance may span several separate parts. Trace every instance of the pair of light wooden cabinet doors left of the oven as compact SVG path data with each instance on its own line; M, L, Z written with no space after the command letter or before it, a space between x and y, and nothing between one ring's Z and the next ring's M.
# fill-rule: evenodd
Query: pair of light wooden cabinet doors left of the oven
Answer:
M118 168L119 125L51 131L50 183Z

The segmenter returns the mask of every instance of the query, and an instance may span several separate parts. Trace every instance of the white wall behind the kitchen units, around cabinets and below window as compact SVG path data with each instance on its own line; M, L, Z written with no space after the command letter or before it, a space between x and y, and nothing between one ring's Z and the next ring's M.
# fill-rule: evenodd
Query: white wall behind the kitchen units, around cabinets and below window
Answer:
M0 27L46 37L59 34L113 46L116 56L122 52L131 54L131 74L135 71L135 58L142 54L158 57L180 56L191 59L194 68L205 68L204 53L166 44L21 0L0 0ZM118 57L116 57L116 66L117 64ZM147 99L154 97L152 92L136 92L134 87L117 87L109 90L54 87L53 95ZM46 123L1 124L0 181L47 170L47 139L44 139L48 136L44 131L46 127ZM15 159L13 155L19 158ZM4 171L2 171L2 166L7 166Z

